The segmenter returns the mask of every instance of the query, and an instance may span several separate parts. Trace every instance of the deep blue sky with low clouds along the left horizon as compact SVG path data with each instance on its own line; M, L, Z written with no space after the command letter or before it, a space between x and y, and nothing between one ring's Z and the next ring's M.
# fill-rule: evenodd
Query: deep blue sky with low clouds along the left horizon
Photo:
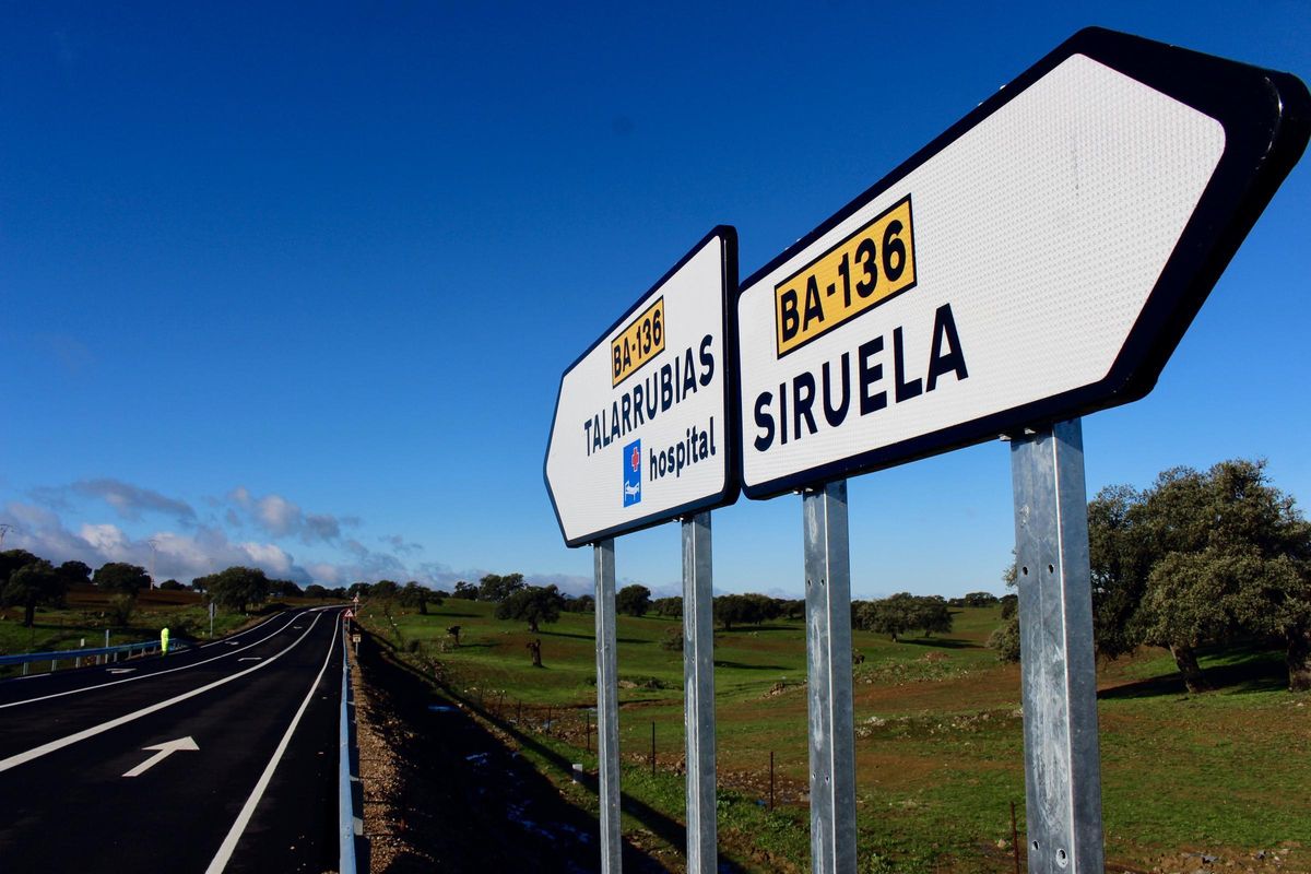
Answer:
M1091 24L1311 77L1303 1L5 4L4 546L585 591L560 372L714 224L750 275ZM1311 501L1308 207L1303 161L1156 390L1084 421L1089 495L1245 456ZM857 596L1000 591L1004 444L850 495ZM800 594L800 498L713 524L718 588Z

